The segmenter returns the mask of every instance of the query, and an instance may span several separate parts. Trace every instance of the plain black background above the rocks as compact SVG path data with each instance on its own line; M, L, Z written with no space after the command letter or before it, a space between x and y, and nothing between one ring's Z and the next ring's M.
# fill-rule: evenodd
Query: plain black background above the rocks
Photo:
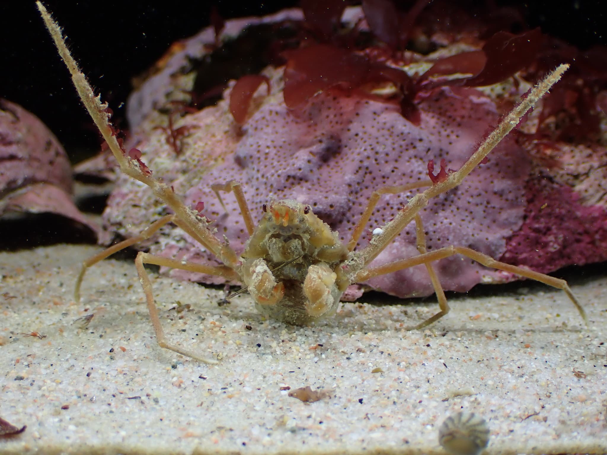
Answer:
M64 28L70 49L93 86L114 109L131 90L131 78L148 69L172 42L194 35L209 24L211 4L234 18L265 15L297 5L296 0L227 1L73 1L47 0L47 8ZM558 2L557 2L558 3ZM585 49L607 44L607 7L602 0L496 1L518 5L532 27ZM76 97L34 0L0 0L0 97L38 115L66 146L96 149L98 135Z

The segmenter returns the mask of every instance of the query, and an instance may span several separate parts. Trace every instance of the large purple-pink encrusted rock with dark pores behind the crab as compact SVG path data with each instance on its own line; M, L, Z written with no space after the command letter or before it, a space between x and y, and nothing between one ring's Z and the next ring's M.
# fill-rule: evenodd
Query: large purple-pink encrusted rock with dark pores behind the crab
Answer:
M300 16L297 10L289 10L263 21L297 20L296 16ZM344 16L352 22L359 17L358 9L348 9ZM259 24L261 20L228 22L226 30L236 36L238 27ZM348 241L373 190L425 180L429 160L438 163L444 158L447 167L457 169L528 87L517 76L515 82L510 80L483 91L438 87L420 92L415 99L420 121L413 124L401 115L396 104L356 94L334 96L325 92L315 96L308 106L290 110L282 96L283 67L270 66L262 72L270 80L270 93L266 95L265 84L260 87L242 126L229 113L230 89L214 106L179 118L175 127L189 129L176 156L166 132L158 127L166 126L166 115L160 107L166 109L175 100L183 99L184 90L192 87L192 78L183 75L187 73L188 58L202 58L213 42L212 30L206 29L181 43L185 50L172 55L164 69L131 96L128 112L133 139L129 146L137 146L143 152L142 160L154 175L171 182L175 192L184 195L186 204L194 207L204 202L203 213L216 220L217 235L225 236L237 251L242 250L248 238L239 208L231 194L222 194L227 212L223 211L210 189L212 184L228 180L243 183L254 220L260 218L262 204L271 198L310 204L314 213ZM474 49L456 42L434 55L413 56L415 63L405 70L420 73L439 56ZM532 119L537 120L540 112L541 105L530 116L526 133L534 132ZM567 147L571 149L557 141L547 146L532 140L531 135L508 136L489 155L489 163L475 169L461 186L430 201L422 212L429 250L451 244L467 246L542 272L605 260L607 198L602 190L605 180L597 178L597 173L604 172L600 169L605 169L605 147L596 141L578 146L583 150L580 153L589 150L592 155L592 172L586 177L575 174L588 167L586 161L573 165L575 160L569 160L566 153L558 155L559 149ZM546 167L550 150L562 158L552 157L552 167ZM575 168L571 170L573 177L563 170L570 165ZM413 194L415 191L384 195L358 248ZM154 200L148 188L120 176L104 219L111 229L128 237L164 214L166 209ZM172 226L164 227L145 246L154 254L179 260L216 262L202 246ZM416 254L415 229L411 224L373 265ZM467 291L481 282L516 278L459 256L435 263L435 269L443 287L453 291ZM185 271L171 274L207 283L223 282L219 277ZM424 266L373 278L364 284L399 297L433 292ZM353 289L349 297L357 295L360 292Z

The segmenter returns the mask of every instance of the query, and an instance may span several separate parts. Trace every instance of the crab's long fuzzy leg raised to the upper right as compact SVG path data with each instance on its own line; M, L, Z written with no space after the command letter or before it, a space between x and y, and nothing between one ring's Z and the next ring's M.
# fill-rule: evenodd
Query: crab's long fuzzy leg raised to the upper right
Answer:
M535 103L561 78L563 73L569 68L569 65L562 64L552 73L549 73L540 83L538 83L521 102L510 113L504 116L497 128L487 137L487 139L478 147L466 163L456 172L450 174L445 180L433 184L432 187L422 193L416 194L409 200L406 207L398 212L396 217L390 223L384 226L384 231L371 238L371 241L360 252L365 265L381 253L388 244L409 224L415 215L427 206L430 198L444 193L458 186L466 175L483 161L491 150L515 127L523 115L535 106Z

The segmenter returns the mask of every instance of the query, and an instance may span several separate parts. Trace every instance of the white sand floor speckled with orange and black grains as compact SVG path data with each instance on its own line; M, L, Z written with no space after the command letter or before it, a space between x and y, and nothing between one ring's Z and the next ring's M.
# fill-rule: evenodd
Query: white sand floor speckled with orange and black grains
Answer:
M96 251L0 254L0 417L27 425L1 454L444 453L438 426L461 409L487 420L486 453L607 453L607 278L573 288L588 328L565 294L533 286L452 299L423 332L399 327L434 304L348 303L295 328L263 320L246 294L219 307L222 291L155 279L164 330L222 357L209 366L158 347L130 263L95 266L73 301ZM33 331L46 338L20 334ZM332 397L280 390L308 385Z

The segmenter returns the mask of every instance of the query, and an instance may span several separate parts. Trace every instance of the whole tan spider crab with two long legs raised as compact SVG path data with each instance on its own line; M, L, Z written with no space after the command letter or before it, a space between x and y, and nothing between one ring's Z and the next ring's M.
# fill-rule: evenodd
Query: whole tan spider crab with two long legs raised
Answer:
M121 172L148 186L154 195L169 206L173 212L155 221L151 226L133 238L124 240L98 255L85 261L80 276L76 281L76 299L79 298L80 284L90 266L108 257L114 252L126 248L138 241L149 238L167 223L174 223L191 235L204 248L212 252L222 263L220 266L187 263L171 258L159 257L140 252L135 260L137 272L146 295L149 314L154 325L158 344L185 356L205 363L217 363L215 359L202 359L195 352L166 342L160 325L157 308L152 295L152 286L144 264L154 264L186 271L219 275L243 283L253 297L257 309L267 317L292 324L305 324L320 318L330 317L339 306L341 295L351 283L388 274L416 265L425 265L436 295L440 311L418 325L406 329L420 329L449 312L449 305L443 288L432 268L432 262L455 254L461 254L484 266L501 269L524 277L541 281L547 285L563 289L571 298L580 315L586 320L585 312L569 289L566 281L549 277L538 272L529 271L517 266L494 260L488 255L461 246L448 246L427 252L424 228L419 211L427 206L436 195L458 186L466 176L483 162L489 152L512 130L522 116L531 109L568 69L561 65L537 84L508 115L504 116L497 128L487 136L476 152L458 170L447 170L441 163L438 175L432 174L433 162L429 163L430 180L413 184L382 187L373 192L361 219L351 234L350 241L342 243L328 224L318 218L311 207L295 200L271 200L263 206L263 215L256 225L246 203L240 183L228 181L225 184L212 186L215 192L234 192L240 207L249 240L242 254L237 254L227 241L221 241L214 234L212 221L200 214L200 211L186 206L168 184L152 176L151 170L140 160L141 152L137 149L126 151L117 141L114 128L109 123L106 104L95 96L89 83L81 73L76 62L67 50L61 29L53 21L46 8L37 2L38 8L46 22L61 58L66 63L73 83L84 106L97 124L110 150L120 165ZM425 188L412 197L389 221L380 233L374 235L370 243L359 251L354 251L357 241L367 226L371 213L382 194L398 194L407 190ZM218 193L219 195L219 193ZM198 207L197 207L198 208ZM416 239L419 255L412 258L393 261L381 266L373 266L372 261L382 252L411 221L416 224Z

